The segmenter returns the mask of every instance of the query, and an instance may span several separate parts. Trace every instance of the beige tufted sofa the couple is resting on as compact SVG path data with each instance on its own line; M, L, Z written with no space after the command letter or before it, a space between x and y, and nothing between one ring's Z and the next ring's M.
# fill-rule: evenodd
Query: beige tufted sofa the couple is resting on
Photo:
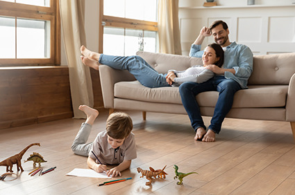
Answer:
M201 64L201 59L183 55L137 52L159 73L169 69L185 70ZM150 89L142 86L128 71L99 66L103 103L110 112L116 110L187 114L178 87ZM201 114L212 116L217 91L196 96ZM254 56L253 73L248 89L237 91L228 118L277 120L291 123L295 140L295 53Z

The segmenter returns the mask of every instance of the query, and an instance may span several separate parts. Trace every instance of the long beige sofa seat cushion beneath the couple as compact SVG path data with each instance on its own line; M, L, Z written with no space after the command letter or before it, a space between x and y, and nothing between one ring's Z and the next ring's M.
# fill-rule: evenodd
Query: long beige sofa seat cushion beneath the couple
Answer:
M248 89L237 91L233 108L283 107L287 97L287 85L253 85ZM117 82L115 97L144 102L182 104L178 87L148 88L140 82ZM200 93L196 97L200 106L214 107L217 91Z

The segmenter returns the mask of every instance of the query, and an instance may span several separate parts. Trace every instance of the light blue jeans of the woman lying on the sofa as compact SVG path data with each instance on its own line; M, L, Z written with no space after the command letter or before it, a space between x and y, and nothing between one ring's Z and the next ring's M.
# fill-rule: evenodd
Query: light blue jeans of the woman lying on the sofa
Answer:
M166 75L160 74L153 69L142 57L103 55L99 57L99 64L105 64L115 69L127 70L133 74L136 80L143 86L150 88L170 86L166 82Z

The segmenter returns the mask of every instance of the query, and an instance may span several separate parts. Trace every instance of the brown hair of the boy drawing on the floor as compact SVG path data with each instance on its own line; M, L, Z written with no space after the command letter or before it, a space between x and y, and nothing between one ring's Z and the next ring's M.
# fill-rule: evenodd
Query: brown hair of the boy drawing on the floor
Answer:
M113 139L122 140L127 138L132 129L132 120L126 113L111 113L106 120L106 132Z

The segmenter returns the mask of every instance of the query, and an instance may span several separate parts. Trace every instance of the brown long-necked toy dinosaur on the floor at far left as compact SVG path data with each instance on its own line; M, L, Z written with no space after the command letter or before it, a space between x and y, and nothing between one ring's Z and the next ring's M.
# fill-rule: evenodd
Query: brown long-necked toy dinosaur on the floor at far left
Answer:
M22 169L22 156L24 156L24 154L26 153L26 151L32 147L33 145L38 145L40 146L40 143L33 143L31 145L28 145L25 149L23 149L21 152L19 152L19 154L15 154L14 156L10 156L9 158L6 158L5 160L0 162L0 166L6 166L6 172L8 172L8 167L10 167L9 171L12 171L12 166L14 164L17 165L17 171L19 171L19 168L24 171L24 169Z

